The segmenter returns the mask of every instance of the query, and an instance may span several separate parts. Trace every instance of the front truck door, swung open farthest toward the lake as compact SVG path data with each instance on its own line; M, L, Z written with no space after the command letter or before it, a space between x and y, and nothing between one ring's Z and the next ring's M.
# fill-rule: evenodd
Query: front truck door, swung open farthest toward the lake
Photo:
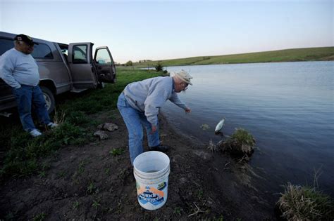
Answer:
M108 47L103 46L95 50L94 65L99 82L116 82L116 67Z

